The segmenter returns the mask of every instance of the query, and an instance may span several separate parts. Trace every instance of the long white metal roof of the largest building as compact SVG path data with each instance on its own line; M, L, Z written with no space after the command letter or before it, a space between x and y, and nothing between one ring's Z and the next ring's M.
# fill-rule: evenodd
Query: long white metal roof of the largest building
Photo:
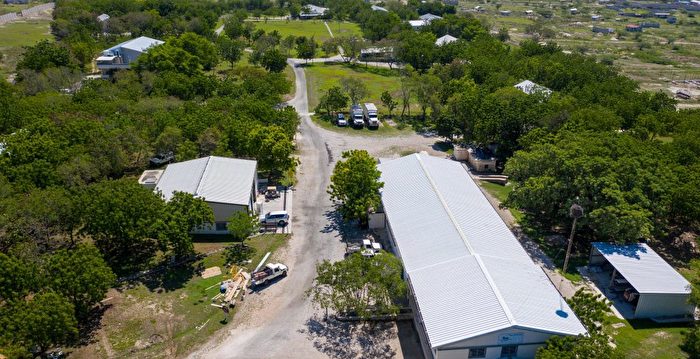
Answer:
M459 162L382 162L382 202L433 348L503 328L585 328Z

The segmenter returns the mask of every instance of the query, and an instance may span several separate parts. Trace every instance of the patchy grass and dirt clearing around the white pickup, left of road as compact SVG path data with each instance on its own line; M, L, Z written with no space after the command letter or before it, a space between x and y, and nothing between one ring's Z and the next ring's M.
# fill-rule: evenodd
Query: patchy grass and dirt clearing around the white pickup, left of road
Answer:
M269 261L274 261L274 251L287 239L288 235L265 234L248 240L256 249L251 266L268 251L273 252ZM195 250L209 252L231 243L226 237L202 238ZM191 266L110 290L101 328L90 344L76 348L71 357L172 358L188 353L227 325L221 309L209 305L218 293L218 283L228 276L224 261L224 252L218 252ZM219 266L223 274L203 279L201 271L213 266ZM231 318L235 321L235 314Z

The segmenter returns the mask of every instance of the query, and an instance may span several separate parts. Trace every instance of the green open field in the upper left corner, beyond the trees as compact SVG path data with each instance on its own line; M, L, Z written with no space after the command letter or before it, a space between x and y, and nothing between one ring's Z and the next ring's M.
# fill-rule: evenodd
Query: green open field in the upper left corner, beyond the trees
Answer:
M0 75L4 78L14 72L22 54L22 46L30 46L51 39L49 20L15 21L0 25Z

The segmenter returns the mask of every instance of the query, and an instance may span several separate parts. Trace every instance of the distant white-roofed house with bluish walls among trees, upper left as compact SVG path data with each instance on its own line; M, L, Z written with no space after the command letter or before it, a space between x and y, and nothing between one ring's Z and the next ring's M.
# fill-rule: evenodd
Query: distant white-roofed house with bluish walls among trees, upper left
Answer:
M150 48L163 44L161 40L141 36L102 51L97 58L97 68L102 71L103 77L109 77L116 70L128 69L131 63L136 61Z

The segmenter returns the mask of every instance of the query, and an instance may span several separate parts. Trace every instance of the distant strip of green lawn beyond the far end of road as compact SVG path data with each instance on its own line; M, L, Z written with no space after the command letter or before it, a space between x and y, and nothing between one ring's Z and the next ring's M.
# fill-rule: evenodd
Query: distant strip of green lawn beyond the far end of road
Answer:
M265 30L266 33L277 30L277 32L286 37L293 36L313 36L316 41L323 42L329 39L331 35L328 29L321 20L270 20L255 22L255 27ZM333 35L338 36L362 36L360 27L351 22L329 21L328 26L333 31Z

